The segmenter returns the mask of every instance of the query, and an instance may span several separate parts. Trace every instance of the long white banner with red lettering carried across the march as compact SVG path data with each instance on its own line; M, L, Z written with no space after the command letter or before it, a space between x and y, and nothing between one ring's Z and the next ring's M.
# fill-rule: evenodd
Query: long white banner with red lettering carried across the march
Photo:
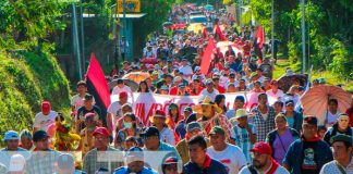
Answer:
M251 111L254 105L257 104L257 96L259 92L232 92L224 94L226 105L228 109L233 109L234 99L236 96L243 96L245 98L245 107L247 111ZM158 94L139 94L134 92L135 102L133 103L134 112L145 125L149 125L149 116L153 116L156 110L163 110L168 114L168 108L171 103L175 103L179 107L179 112L182 113L185 107L192 107L199 103L202 96L168 96ZM118 95L111 96L111 101L117 101ZM132 100L130 99L130 103Z

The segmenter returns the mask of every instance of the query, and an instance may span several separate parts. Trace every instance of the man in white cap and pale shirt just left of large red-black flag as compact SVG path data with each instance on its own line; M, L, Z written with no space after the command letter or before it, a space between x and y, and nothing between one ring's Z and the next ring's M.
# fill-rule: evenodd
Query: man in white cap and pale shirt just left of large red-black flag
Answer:
M75 116L77 114L78 109L84 105L84 98L87 92L86 82L80 80L76 85L76 90L77 95L71 98L71 112L73 116ZM95 103L95 98L93 99L93 101Z

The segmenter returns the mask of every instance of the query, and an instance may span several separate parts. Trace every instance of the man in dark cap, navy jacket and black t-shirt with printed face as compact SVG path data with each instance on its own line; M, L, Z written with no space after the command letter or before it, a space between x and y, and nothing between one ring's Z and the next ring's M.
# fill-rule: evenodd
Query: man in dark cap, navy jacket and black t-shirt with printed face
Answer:
M302 138L287 150L282 165L291 173L319 173L324 164L332 161L332 151L317 136L317 119L304 117Z

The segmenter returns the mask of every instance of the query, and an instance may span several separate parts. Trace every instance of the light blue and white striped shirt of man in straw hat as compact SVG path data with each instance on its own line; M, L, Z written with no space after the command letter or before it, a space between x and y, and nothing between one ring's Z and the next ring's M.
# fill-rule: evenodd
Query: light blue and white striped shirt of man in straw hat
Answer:
M256 135L254 125L248 124L248 127L251 128L252 134ZM234 130L234 135L235 135L234 140L235 140L236 146L239 146L243 150L243 153L246 158L247 163L252 163L252 156L248 150L253 148L254 144L251 142L246 128L242 128L242 127L235 125L233 127L233 130Z

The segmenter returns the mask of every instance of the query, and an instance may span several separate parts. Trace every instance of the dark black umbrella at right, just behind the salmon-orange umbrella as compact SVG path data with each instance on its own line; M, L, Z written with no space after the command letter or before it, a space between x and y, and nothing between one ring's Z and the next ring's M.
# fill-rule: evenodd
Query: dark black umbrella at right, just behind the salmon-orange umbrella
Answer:
M278 78L278 88L287 92L294 80L299 80L301 86L305 86L307 83L307 74L284 74Z

